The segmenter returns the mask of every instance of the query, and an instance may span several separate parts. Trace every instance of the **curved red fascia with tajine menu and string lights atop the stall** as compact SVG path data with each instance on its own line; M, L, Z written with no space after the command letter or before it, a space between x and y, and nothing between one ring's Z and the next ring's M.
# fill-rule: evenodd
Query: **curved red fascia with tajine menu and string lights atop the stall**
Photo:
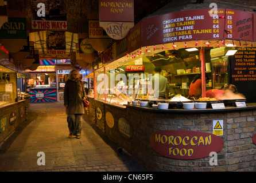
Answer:
M144 18L127 34L131 53L140 47L256 46L256 15L231 9L196 9Z

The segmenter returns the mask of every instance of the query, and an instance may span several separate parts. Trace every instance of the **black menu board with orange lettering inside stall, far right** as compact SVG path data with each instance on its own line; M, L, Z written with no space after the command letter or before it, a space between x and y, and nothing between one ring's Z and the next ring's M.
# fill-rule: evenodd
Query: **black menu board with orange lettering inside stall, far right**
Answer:
M256 102L256 47L238 47L231 57L231 83L248 102Z

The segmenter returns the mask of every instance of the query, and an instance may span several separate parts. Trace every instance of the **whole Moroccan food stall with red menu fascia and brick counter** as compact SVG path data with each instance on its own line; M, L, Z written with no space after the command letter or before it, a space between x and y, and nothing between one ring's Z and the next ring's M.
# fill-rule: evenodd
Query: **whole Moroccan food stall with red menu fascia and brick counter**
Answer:
M254 16L202 9L143 19L127 34L128 54L94 71L91 121L151 171L255 171L255 88L246 93L237 85L239 96L225 98L223 90L223 98L207 97L208 90L254 78L246 72L254 70L255 60L245 56L255 46ZM232 50L236 53L229 55ZM143 74L129 77L125 66L137 64L144 66ZM157 66L170 85L165 100L147 93ZM196 74L202 92L191 100L189 83Z

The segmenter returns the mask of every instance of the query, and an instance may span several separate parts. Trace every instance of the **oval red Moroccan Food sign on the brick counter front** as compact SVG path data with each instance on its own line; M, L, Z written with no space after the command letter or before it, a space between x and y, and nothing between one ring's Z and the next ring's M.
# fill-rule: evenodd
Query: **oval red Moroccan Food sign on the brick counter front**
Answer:
M157 153L180 160L195 160L219 152L222 138L211 133L187 130L161 130L150 135L150 144Z

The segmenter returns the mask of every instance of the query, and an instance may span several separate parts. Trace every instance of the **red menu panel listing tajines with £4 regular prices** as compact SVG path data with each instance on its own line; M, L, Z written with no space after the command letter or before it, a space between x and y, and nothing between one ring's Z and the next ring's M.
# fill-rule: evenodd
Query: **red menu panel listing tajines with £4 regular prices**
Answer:
M225 9L178 11L143 20L144 45L224 37Z

